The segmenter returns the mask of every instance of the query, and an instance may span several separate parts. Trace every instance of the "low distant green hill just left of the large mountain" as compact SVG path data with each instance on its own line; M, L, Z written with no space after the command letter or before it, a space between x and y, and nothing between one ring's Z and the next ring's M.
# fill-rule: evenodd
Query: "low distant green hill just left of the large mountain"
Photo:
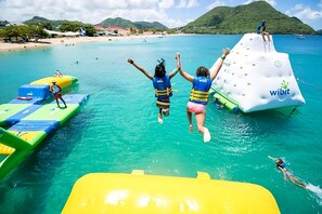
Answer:
M99 25L103 27L111 27L111 26L119 26L121 28L138 28L138 29L158 29L165 30L168 29L165 25L158 22L131 22L128 19L124 19L121 17L116 18L106 18L105 21L101 22Z

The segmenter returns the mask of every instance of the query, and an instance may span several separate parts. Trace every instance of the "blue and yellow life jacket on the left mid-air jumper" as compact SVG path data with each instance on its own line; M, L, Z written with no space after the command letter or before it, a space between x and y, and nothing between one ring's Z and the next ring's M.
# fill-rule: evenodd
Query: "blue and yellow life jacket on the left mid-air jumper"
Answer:
M168 98L172 96L172 89L169 76L164 78L153 78L153 86L155 89L155 97L158 98Z

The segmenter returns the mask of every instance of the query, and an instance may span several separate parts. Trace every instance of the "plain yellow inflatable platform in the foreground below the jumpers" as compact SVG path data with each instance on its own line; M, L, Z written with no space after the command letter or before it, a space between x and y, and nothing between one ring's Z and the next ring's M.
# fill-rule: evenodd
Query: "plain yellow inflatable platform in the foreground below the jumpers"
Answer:
M62 213L280 213L272 193L246 183L132 174L92 173L79 178Z

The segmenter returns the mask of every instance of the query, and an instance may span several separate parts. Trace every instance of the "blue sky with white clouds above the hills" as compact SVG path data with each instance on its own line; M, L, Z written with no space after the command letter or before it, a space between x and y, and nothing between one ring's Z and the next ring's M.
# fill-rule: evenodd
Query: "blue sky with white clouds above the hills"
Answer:
M22 22L33 16L98 24L107 17L183 26L218 5L254 0L0 0L0 19ZM278 11L322 29L322 0L266 0Z

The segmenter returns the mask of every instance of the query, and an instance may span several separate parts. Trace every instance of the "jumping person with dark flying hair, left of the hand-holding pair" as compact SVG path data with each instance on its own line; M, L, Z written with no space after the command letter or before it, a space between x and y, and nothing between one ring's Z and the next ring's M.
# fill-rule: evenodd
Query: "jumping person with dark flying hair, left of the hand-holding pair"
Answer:
M128 58L128 63L133 65L139 69L143 75L152 80L153 86L155 89L156 106L158 108L157 120L159 123L163 123L163 116L168 117L170 113L170 96L172 96L171 81L170 79L175 77L178 70L171 72L169 76L166 75L165 59L158 61L158 64L155 66L155 73L152 76L144 68L140 67Z

